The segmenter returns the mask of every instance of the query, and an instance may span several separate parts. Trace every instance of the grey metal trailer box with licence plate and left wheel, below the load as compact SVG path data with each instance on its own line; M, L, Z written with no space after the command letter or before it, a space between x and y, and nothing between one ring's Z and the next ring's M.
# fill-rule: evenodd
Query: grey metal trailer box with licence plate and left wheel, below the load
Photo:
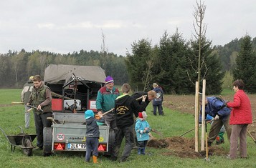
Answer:
M44 128L44 154L54 152L85 152L86 124L84 114L54 113L52 127ZM99 152L108 152L109 127L99 126Z

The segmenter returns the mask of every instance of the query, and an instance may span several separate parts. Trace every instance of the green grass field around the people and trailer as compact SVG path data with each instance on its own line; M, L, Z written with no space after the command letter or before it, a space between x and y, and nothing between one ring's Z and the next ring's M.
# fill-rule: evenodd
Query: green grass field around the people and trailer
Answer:
M4 129L6 134L19 134L18 126L24 128L24 106L11 105L11 102L20 101L21 89L0 89L0 127ZM164 109L165 116L154 117L151 113L151 104L148 105L147 114L148 122L153 129L163 133L164 137L177 137L180 134L194 127L194 116L184 112L172 111ZM24 129L25 133L34 134L34 120L31 117L31 127ZM153 133L157 139L158 134ZM186 137L194 137L193 132L186 134ZM184 159L166 156L163 154L168 149L154 149L147 147L145 156L136 154L133 150L128 162L119 163L111 162L108 158L100 155L99 164L85 163L84 153L57 153L51 157L42 157L42 151L33 150L32 157L27 157L23 154L22 149L16 148L15 152L11 153L11 147L0 132L0 163L1 167L256 167L256 145L250 137L247 137L247 153L249 159L228 160L224 156L210 156L209 161L204 158L199 159ZM33 144L35 145L36 139ZM225 151L229 150L229 143L222 144ZM121 150L122 151L122 150Z

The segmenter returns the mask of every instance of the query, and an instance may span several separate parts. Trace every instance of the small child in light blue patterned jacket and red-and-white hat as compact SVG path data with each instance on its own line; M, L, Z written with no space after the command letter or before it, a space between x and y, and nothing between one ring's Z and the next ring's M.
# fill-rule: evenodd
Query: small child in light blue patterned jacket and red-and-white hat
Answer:
M148 133L151 131L151 127L146 121L146 112L139 112L138 119L135 124L135 131L138 140L138 154L145 154L146 145L149 140Z

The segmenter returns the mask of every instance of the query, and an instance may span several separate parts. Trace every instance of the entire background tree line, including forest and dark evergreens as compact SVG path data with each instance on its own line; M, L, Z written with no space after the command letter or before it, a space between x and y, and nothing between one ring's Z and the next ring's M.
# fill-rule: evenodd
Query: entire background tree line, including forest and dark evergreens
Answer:
M256 92L255 45L249 35L234 39L224 46L212 46L202 40L202 79L207 80L207 94L219 94L224 83L243 79L247 92ZM115 84L129 82L135 91L151 89L153 82L168 94L192 94L197 80L198 41L186 40L177 30L166 31L158 44L140 39L131 44L131 53L117 56L107 51L75 51L56 54L48 51L9 51L0 54L0 87L21 88L29 76L40 74L49 64L95 65L105 69ZM232 76L232 77L230 77Z

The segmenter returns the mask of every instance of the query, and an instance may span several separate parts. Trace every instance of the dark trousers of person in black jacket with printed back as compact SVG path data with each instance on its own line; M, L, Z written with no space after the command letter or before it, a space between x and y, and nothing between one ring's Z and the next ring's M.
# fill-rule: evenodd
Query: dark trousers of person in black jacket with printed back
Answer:
M115 149L113 157L118 157L119 149L121 147L123 137L125 137L125 147L123 149L121 161L125 161L131 154L133 149L134 137L133 137L133 125L123 128L118 128L118 132L115 135Z

